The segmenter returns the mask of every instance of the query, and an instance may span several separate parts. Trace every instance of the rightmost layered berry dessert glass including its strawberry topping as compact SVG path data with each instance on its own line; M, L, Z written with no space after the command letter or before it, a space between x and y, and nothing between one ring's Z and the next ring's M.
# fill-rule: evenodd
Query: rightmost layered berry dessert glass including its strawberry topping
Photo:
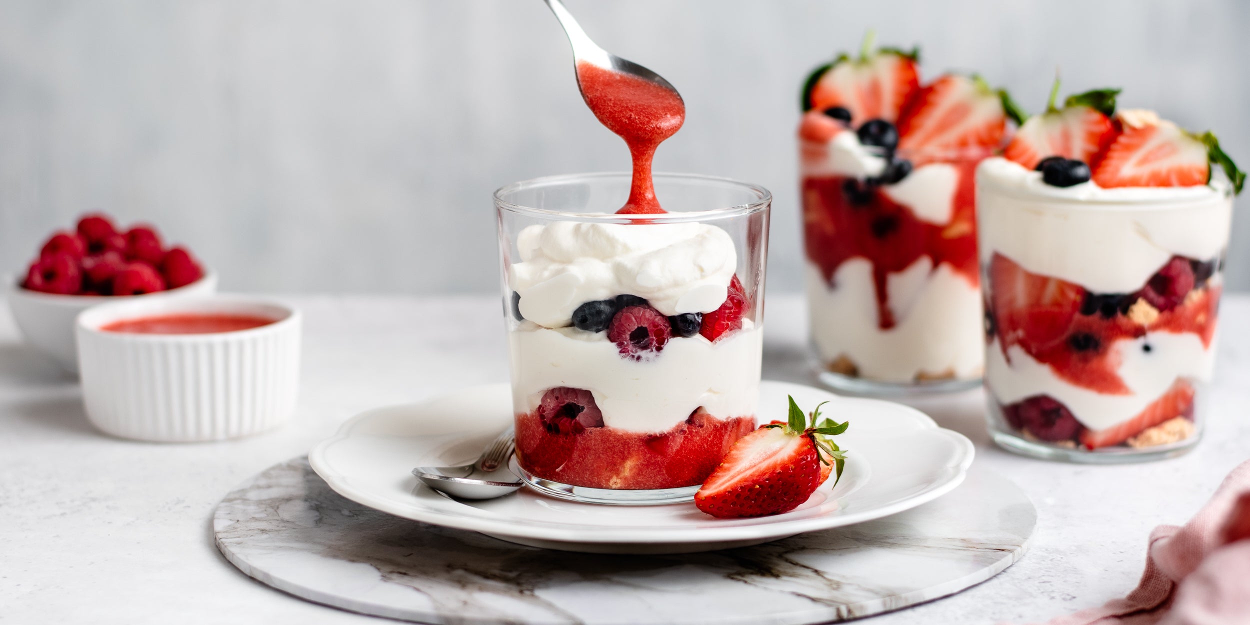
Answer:
M1151 460L1202 432L1245 176L1116 94L1052 94L976 172L989 429L1012 451Z

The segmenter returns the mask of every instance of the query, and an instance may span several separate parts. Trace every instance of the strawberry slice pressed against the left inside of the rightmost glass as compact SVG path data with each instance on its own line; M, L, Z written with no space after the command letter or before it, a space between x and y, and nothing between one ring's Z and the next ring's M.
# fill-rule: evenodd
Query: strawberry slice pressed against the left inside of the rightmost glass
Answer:
M1030 274L1011 259L990 259L990 309L1002 349L1038 354L1064 340L1085 300L1079 285Z

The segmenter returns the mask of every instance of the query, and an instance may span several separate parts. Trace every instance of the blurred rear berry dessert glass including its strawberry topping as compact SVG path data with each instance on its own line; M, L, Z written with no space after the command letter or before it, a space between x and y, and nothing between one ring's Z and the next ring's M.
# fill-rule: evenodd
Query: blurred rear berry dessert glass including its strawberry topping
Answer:
M915 51L870 41L808 79L800 186L825 384L891 394L980 382L974 172L1005 140L1006 101L976 76L921 85Z

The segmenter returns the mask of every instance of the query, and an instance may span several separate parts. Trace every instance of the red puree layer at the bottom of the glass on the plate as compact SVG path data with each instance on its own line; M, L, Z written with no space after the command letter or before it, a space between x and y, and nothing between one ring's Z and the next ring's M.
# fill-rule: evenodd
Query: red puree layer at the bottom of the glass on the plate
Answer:
M516 416L516 460L552 481L595 489L675 489L702 484L755 419L716 419L702 409L662 432L616 428L551 431L539 414Z

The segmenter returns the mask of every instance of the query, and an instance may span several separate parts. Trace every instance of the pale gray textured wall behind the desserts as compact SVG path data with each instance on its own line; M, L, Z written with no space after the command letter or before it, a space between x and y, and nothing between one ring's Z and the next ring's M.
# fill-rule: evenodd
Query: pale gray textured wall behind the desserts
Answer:
M1032 111L1056 66L1065 91L1122 86L1250 165L1240 0L569 5L681 90L656 169L774 191L774 289L800 285L799 85L870 26ZM628 166L539 0L0 0L0 271L98 208L155 221L228 289L486 291L492 189ZM1250 219L1235 230L1246 290Z

